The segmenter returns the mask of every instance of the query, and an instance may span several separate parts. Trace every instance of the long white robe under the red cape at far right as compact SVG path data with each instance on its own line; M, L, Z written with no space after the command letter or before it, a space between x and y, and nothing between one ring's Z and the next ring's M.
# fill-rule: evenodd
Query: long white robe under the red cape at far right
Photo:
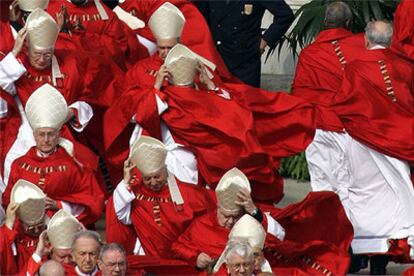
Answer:
M413 239L414 189L406 162L370 149L347 133L321 130L306 155L312 187L326 186L341 199L354 227L354 253L386 252L389 239Z

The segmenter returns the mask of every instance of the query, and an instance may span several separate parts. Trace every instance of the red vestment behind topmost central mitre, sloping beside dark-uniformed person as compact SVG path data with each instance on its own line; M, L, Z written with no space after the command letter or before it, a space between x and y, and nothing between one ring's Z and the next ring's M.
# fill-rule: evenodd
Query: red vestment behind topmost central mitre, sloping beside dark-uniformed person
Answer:
M210 28L205 21L203 15L197 7L188 0L155 0L155 1L124 1L120 3L120 7L135 15L145 22L146 26L139 29L139 34L155 41L151 30L148 27L148 20L151 15L164 3L170 2L174 4L185 17L184 29L181 34L181 43L189 47L192 51L200 56L208 59L217 66L217 72L221 77L227 80L235 79L227 70L223 59L221 58L214 40L212 38Z

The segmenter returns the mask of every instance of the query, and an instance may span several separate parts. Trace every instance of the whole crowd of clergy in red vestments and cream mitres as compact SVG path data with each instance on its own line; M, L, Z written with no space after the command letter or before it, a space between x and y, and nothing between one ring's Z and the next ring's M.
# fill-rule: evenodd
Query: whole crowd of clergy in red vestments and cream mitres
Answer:
M327 5L290 93L229 71L197 1L1 2L0 275L413 262L414 1L360 34ZM312 192L279 208L281 160L301 152Z

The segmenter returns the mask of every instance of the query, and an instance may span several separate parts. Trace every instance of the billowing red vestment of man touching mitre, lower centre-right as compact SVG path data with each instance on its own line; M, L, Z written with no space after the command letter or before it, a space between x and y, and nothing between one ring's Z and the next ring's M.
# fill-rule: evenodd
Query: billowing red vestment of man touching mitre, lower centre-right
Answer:
M334 193L310 193L300 203L280 210L271 206L268 209L273 209L272 217L286 231L283 241L269 234L266 237L265 257L276 272L278 267L299 268L312 275L324 274L324 269L334 275L347 272L347 251L353 238L353 228ZM329 213L326 220L321 219L322 209L324 214ZM265 229L266 224L265 220ZM229 230L218 224L217 213L210 212L194 220L173 243L172 250L177 258L194 265L202 252L218 258L227 243L228 234Z

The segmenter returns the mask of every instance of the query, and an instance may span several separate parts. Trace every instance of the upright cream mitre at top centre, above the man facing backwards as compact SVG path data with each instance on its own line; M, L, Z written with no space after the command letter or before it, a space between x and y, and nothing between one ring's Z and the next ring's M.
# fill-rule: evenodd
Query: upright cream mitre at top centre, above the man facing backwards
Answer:
M151 15L148 26L157 40L172 39L181 36L184 23L182 12L170 2L165 2Z

